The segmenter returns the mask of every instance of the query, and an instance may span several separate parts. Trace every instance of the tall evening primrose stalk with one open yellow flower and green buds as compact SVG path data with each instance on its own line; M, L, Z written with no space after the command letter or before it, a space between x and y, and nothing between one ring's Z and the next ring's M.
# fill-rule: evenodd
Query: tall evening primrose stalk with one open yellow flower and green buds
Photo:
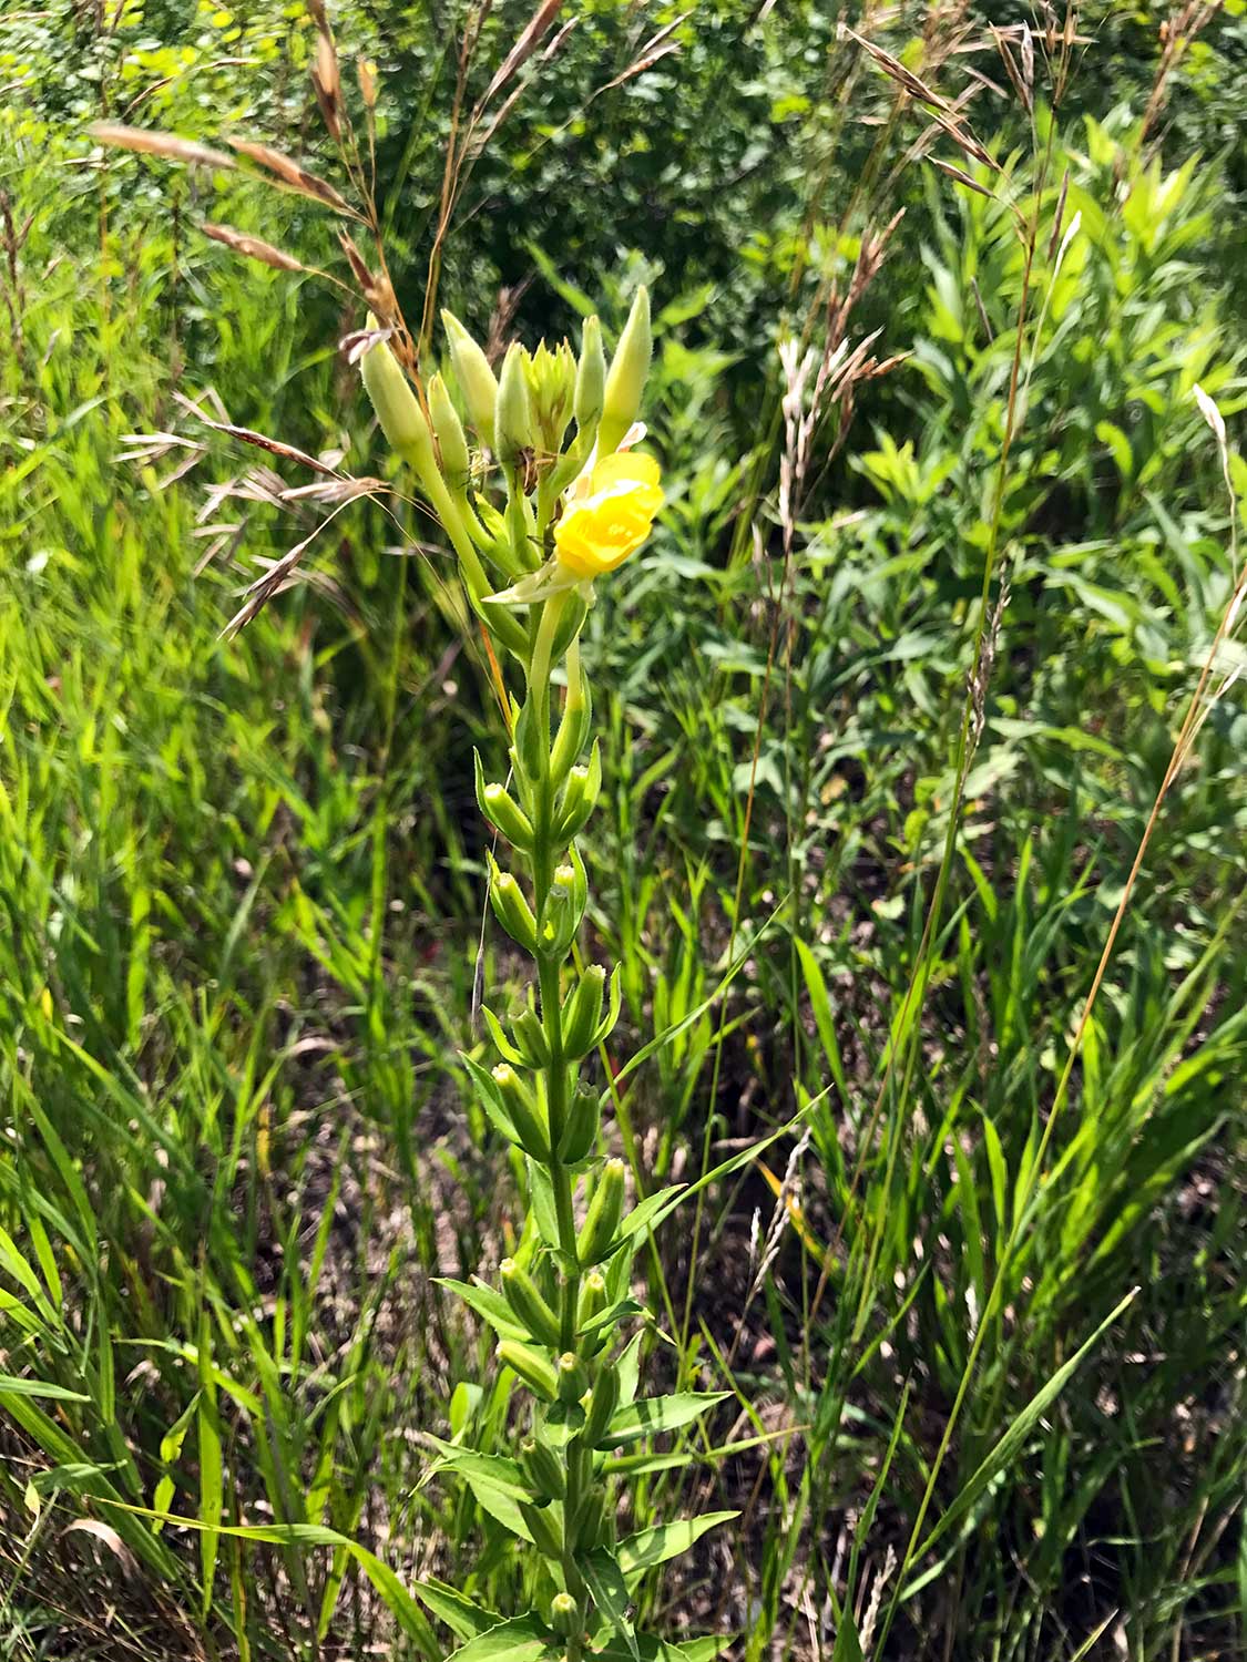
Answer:
M722 1640L670 1645L630 1620L645 1571L733 1514L619 1537L615 1474L640 1464L620 1463L620 1451L635 1456L642 1439L692 1424L720 1393L640 1394L648 1313L632 1293L632 1260L677 1195L658 1192L628 1212L624 1162L600 1153L602 1099L582 1065L615 1025L620 972L570 962L589 897L577 838L602 786L580 632L595 583L645 543L663 502L657 460L635 449L648 296L637 293L609 369L597 317L579 359L565 342L535 352L512 344L497 377L456 317L444 314L444 327L471 439L441 376L422 406L389 331L371 329L361 367L386 439L444 525L517 686L505 691L509 778L489 779L477 755L476 794L505 849L489 858L489 902L532 977L505 1019L482 1012L497 1062L464 1057L489 1122L524 1157L522 1245L495 1276L451 1283L495 1331L499 1366L527 1403L510 1456L434 1441L439 1468L462 1478L539 1566L527 1581L540 1597L502 1619L446 1587L416 1591L464 1640L457 1662L710 1657Z

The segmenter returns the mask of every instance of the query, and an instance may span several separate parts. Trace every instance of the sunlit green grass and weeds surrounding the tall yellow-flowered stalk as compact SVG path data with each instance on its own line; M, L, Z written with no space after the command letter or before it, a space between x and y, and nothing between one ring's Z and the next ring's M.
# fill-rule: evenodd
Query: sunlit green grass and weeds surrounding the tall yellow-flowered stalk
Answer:
M487 83L525 22L507 13L469 75ZM705 27L677 32L688 66ZM783 18L757 28L795 83ZM743 256L717 293L658 283L672 505L585 645L609 735L594 922L630 1035L675 1029L620 1082L610 1135L648 1180L695 1178L800 1107L810 1133L707 1192L695 1248L668 1228L650 1255L680 1341L653 1366L733 1396L655 1459L633 1526L690 1499L743 1519L640 1614L747 1657L1229 1657L1247 1632L1232 642L1169 766L1235 582L1192 391L1232 435L1217 173L1157 121L1199 57L1169 53L1156 105L1139 73L1114 110L1096 43L1076 45L1052 111L1059 50L1049 65L1036 28L1028 83L1013 33L1031 115L986 37L966 55L948 20L916 43L856 28L941 98L966 63L1008 81L1008 105L979 93L966 115L994 166L936 135L979 189L939 176L913 155L938 106L826 43L786 316L768 301L750 337ZM456 47L422 91L447 108ZM382 120L414 96L382 76ZM454 645L444 567L412 553L429 527L401 502L397 527L344 507L309 580L218 640L253 557L311 530L256 464L308 480L176 394L211 384L231 422L371 474L343 321L303 276L191 234L201 178L171 186L173 214L158 165L126 163L146 183L121 191L116 170L48 166L81 140L7 131L10 238L33 223L7 268L0 416L3 1644L439 1654L416 1576L495 1609L525 1591L471 1496L422 1483L421 1448L489 1453L505 1431L504 1398L464 1383L482 1341L432 1280L500 1258L517 1218L451 1084L476 1042L489 668ZM449 226L457 306L492 166ZM831 293L901 204L846 339L883 324L876 359L911 357L830 401L800 485L813 381L793 401L771 337L835 351ZM231 184L206 216L326 258L298 199ZM544 256L522 304L574 311L585 273ZM191 472L168 479L185 445L128 439L153 432L203 444ZM1242 499L1232 444L1225 465ZM200 519L209 479L244 475L249 497ZM515 972L489 934L485 952L494 982Z

